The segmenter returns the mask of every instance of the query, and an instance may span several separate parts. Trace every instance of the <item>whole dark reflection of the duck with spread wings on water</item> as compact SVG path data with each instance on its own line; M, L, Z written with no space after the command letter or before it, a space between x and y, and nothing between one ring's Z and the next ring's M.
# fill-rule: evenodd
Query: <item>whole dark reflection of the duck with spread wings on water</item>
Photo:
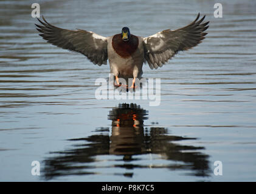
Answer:
M141 109L139 105L120 104L109 112L108 118L112 121L111 136L108 128L100 128L95 130L95 135L69 139L69 141L81 142L73 149L54 152L59 155L45 159L44 177L51 179L63 175L99 174L109 168L131 170L159 167L170 170L190 170L195 176L209 175L207 160L209 156L199 152L204 147L178 144L178 141L196 138L168 135L168 130L163 127L144 129L144 120L148 119L147 111ZM155 154L168 162L161 166L157 165L157 160L150 161L150 166L145 161L139 162L140 155L147 154ZM104 161L106 155L122 155L123 164L120 164L120 159L113 161L111 158L105 163L106 166L102 166L99 160L102 155L105 155ZM136 159L133 159L133 155L137 155ZM116 164L113 165L113 162ZM97 168L100 168L101 172ZM114 175L118 174L114 173ZM133 176L133 173L124 172L122 175Z

